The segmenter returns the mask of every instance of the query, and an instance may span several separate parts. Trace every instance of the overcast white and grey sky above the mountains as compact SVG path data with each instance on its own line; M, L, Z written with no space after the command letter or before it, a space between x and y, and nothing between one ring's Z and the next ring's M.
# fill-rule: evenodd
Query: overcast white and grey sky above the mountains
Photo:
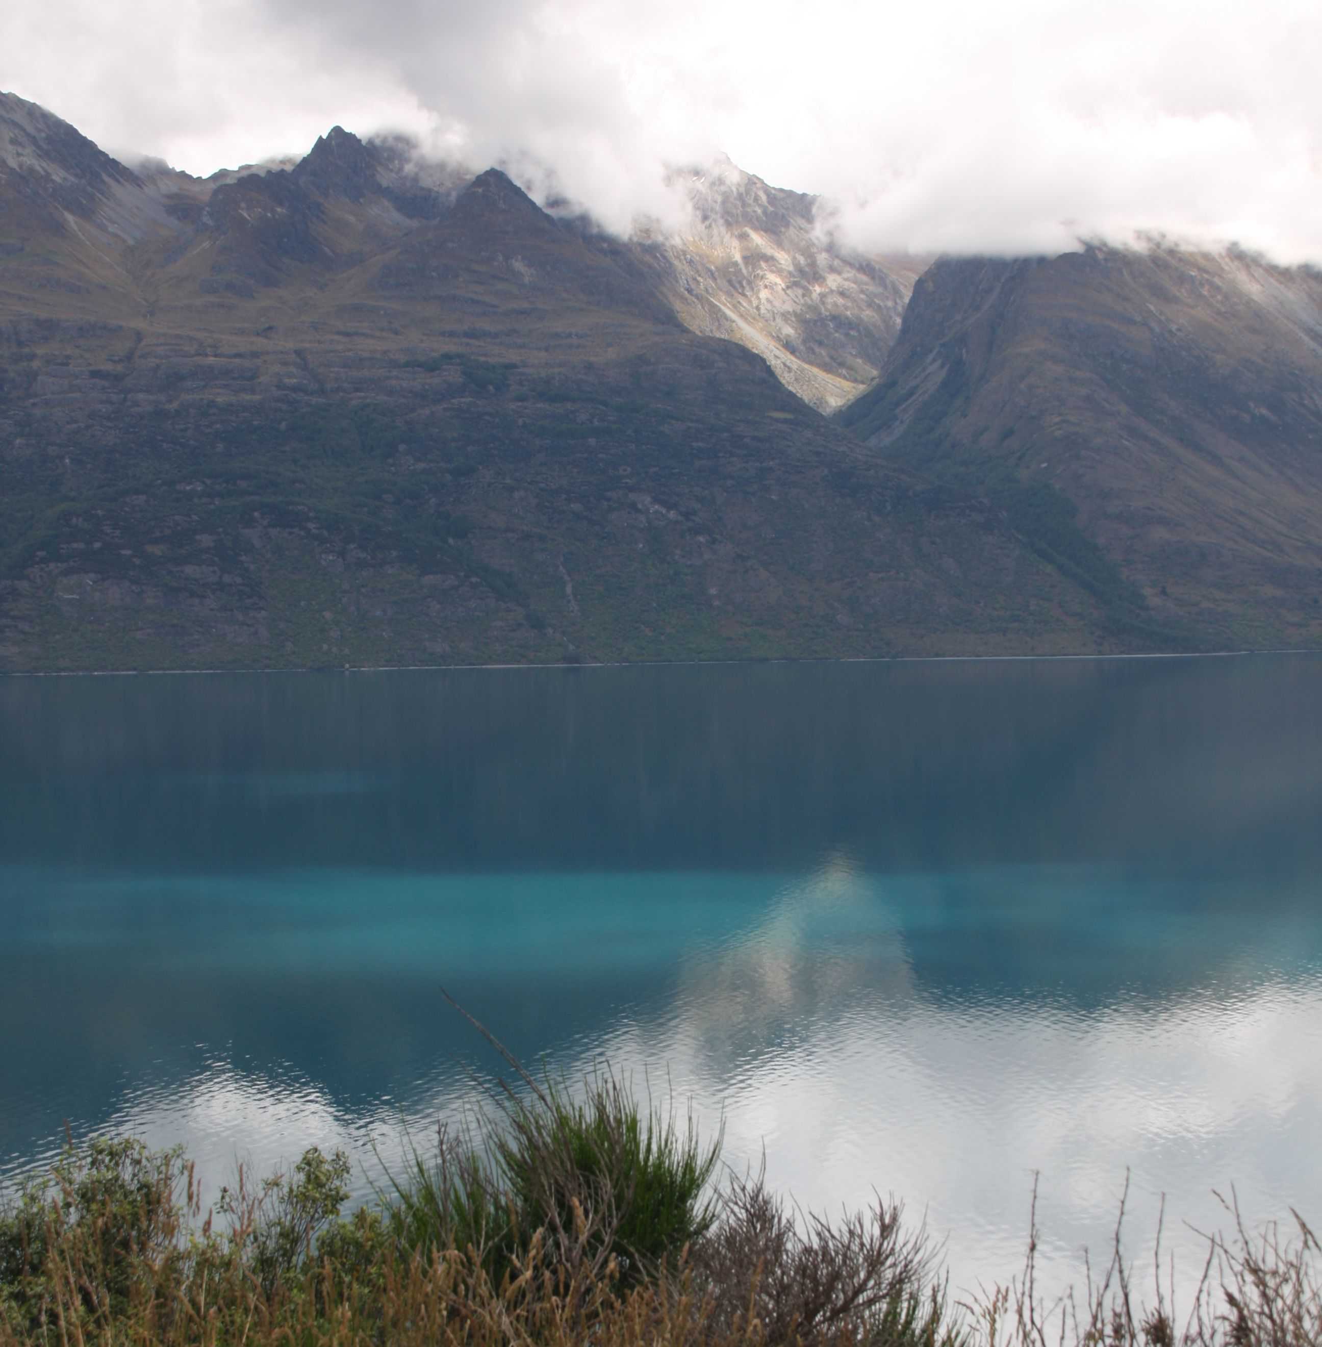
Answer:
M879 249L1322 261L1317 0L28 0L0 89L191 172L410 131L606 224L718 151Z

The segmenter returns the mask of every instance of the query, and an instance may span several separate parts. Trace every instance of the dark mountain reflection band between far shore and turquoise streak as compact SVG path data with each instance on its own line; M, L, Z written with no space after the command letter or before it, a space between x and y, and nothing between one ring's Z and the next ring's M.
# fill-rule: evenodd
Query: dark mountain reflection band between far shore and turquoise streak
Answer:
M1319 695L1310 656L11 680L0 855L1317 874Z

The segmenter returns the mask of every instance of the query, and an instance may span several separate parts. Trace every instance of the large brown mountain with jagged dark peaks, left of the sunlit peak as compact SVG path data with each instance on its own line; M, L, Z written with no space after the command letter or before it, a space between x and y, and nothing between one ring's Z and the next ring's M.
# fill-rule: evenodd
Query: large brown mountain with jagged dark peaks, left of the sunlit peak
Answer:
M338 128L135 171L12 96L0 150L3 669L1164 638L499 171Z

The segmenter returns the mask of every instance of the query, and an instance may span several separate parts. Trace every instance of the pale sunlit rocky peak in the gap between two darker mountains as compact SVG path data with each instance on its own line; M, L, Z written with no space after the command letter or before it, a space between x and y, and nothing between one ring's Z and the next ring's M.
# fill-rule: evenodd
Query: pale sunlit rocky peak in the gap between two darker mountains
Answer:
M769 187L729 162L683 182L689 228L644 241L681 321L755 350L819 411L862 392L930 259L841 251L823 236L815 197Z

